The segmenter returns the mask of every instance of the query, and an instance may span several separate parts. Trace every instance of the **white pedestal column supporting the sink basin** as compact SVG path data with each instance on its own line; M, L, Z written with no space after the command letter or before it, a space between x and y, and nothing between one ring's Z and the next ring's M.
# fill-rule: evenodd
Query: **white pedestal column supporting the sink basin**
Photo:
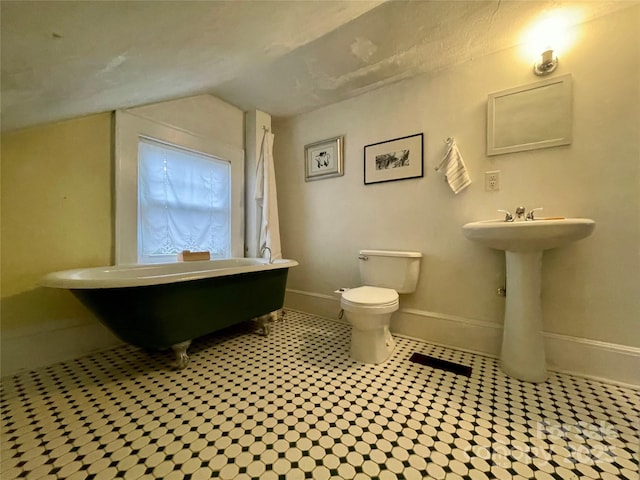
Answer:
M542 336L540 278L542 251L505 251L507 297L500 363L512 377L544 382L547 368Z

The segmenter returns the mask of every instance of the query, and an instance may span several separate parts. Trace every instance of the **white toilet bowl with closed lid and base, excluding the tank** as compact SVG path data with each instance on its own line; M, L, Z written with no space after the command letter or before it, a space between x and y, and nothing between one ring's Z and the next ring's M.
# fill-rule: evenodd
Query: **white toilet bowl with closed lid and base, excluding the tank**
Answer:
M398 293L390 288L363 286L342 294L340 305L351 324L351 358L385 362L395 342L389 332L391 314L398 310Z

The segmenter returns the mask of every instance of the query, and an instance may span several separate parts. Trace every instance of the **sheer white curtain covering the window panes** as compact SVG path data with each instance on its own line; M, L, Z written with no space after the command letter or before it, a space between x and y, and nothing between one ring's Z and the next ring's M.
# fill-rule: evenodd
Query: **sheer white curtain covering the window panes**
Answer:
M151 139L138 146L138 261L231 256L231 166Z

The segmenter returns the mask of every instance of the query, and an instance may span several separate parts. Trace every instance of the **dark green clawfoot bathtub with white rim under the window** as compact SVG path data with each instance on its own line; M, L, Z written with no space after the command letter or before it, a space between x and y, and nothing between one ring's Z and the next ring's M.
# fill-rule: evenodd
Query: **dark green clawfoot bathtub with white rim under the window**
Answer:
M45 287L68 289L127 343L176 353L186 367L192 339L282 308L295 260L231 258L65 270Z

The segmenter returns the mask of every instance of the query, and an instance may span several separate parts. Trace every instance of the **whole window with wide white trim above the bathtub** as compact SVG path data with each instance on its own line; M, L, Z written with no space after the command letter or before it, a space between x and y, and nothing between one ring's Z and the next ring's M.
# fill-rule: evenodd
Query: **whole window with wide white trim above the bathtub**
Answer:
M242 257L244 152L116 112L116 263Z

